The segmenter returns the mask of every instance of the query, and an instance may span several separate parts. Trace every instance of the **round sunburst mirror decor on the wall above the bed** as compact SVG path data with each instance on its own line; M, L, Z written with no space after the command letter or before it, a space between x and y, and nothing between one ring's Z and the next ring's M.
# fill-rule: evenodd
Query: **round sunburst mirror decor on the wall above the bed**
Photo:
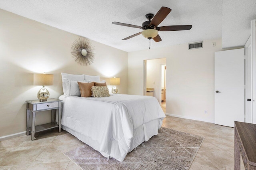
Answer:
M94 46L90 40L79 38L71 46L71 54L75 61L83 66L91 65L94 61Z

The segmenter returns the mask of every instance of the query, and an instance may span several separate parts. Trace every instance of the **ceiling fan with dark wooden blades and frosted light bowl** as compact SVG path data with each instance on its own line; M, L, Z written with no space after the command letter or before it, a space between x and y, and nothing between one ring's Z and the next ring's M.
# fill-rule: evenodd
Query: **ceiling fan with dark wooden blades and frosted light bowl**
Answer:
M149 40L151 40L153 38L153 40L155 42L160 42L160 41L162 41L162 39L158 35L158 31L180 31L180 30L190 30L192 28L192 25L158 27L158 25L164 20L164 18L166 18L166 16L170 12L171 12L170 8L163 6L162 8L160 8L160 10L156 13L155 16L154 16L154 14L146 14L146 18L148 19L148 21L143 22L142 26L124 24L124 23L120 23L120 22L112 22L112 24L126 26L126 27L132 27L132 28L140 28L143 30L142 32L139 32L132 36L126 37L122 40L128 40L130 38L133 38L135 36L142 34L142 36L144 36L145 38L148 38Z

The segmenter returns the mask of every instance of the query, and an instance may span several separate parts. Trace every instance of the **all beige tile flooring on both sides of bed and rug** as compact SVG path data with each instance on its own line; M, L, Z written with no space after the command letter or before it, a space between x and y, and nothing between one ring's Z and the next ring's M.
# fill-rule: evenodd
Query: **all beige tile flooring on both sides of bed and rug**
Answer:
M190 170L232 170L234 162L234 128L167 116L163 127L204 136L204 142ZM83 143L62 130L47 130L0 142L0 170L78 170L63 153ZM243 167L243 165L242 165Z

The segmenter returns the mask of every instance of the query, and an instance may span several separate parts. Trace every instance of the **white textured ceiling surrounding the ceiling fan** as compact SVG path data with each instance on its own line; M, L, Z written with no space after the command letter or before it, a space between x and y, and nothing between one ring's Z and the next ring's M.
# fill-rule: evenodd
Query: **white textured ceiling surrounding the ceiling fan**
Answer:
M142 30L111 23L116 21L141 26L142 22L146 21L146 14L156 14L162 6L166 6L172 11L159 26L193 25L193 27L187 31L159 32L162 41L158 43L152 41L152 49L220 37L225 40L224 47L240 46L240 41L229 39L234 35L228 30L230 27L233 28L234 24L239 24L234 23L234 20L239 18L240 14L232 17L230 12L236 11L233 7L239 8L240 4L250 5L234 4L237 0L224 1L226 1L223 3L226 11L222 11L222 0L2 0L0 8L124 51L137 51L148 49L149 40L142 35L129 40L122 39ZM255 0L248 1L255 3L253 2ZM256 11L255 9L253 10ZM230 17L232 21L227 21ZM222 24L222 18L227 23ZM248 18L242 19L245 22ZM250 23L250 20L246 23ZM240 29L248 29L247 25L244 27L241 26ZM237 34L243 36L241 32ZM247 40L248 36L244 39ZM242 43L244 44L246 40Z

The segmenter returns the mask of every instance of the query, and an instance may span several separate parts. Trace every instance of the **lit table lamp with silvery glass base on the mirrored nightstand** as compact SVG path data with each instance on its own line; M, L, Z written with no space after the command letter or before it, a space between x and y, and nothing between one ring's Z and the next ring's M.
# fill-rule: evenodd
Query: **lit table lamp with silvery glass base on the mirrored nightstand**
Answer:
M43 87L38 91L37 97L39 101L47 101L50 96L49 91L44 87L45 85L53 85L53 74L34 74L34 85L42 85Z

